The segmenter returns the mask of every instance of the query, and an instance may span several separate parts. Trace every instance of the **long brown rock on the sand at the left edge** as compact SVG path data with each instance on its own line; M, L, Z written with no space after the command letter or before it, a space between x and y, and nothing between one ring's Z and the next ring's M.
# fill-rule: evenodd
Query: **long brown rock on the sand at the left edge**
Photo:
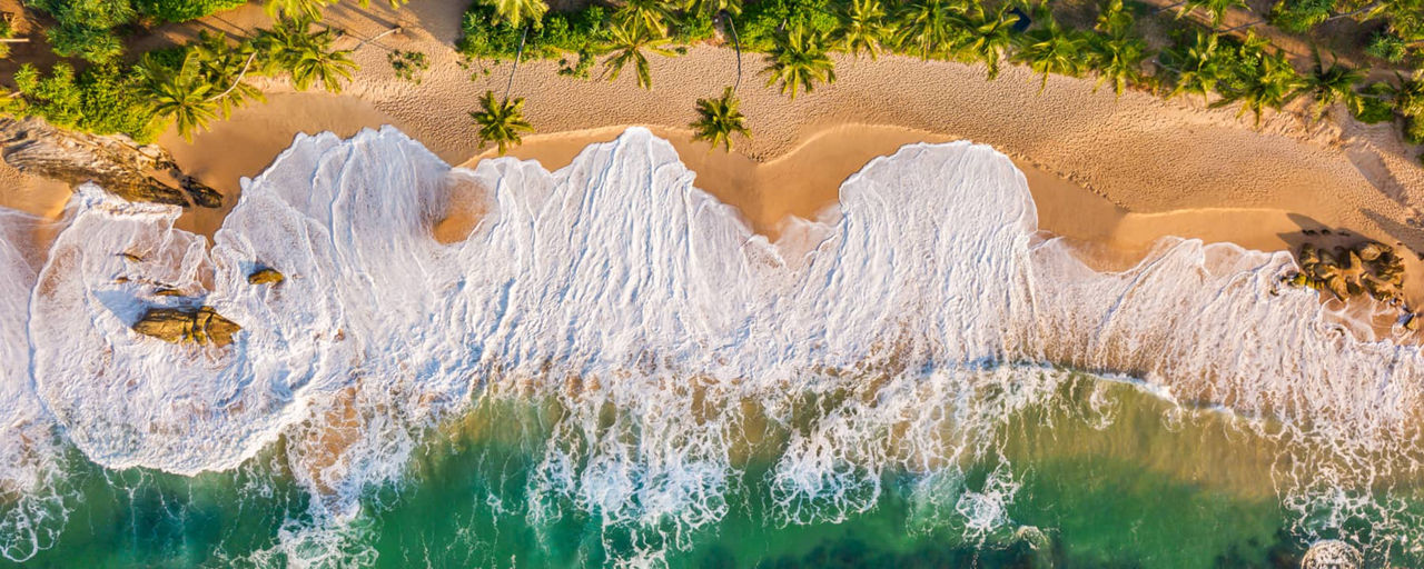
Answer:
M71 185L94 182L132 202L222 206L222 195L184 175L168 151L124 135L71 132L37 117L0 117L0 156L21 172Z

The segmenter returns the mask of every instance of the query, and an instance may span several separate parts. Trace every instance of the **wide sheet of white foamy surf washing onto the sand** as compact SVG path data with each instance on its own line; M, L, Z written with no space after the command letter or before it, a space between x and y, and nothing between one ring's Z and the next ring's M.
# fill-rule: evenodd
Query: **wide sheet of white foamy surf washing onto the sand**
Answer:
M917 515L977 539L1012 525L1018 482L1005 467L965 486L961 468L1007 465L998 430L1052 405L1071 376L1055 366L1219 405L1276 441L1303 536L1378 556L1420 528L1393 488L1424 458L1424 357L1282 287L1287 253L1166 239L1126 272L1092 270L1037 232L1022 174L967 142L871 161L775 243L692 182L641 128L553 174L450 168L384 128L298 137L244 181L211 248L172 228L177 208L84 186L36 276L0 218L0 401L24 418L0 452L31 457L0 477L6 528L63 523L43 504L63 486L46 478L63 469L56 430L107 468L185 475L281 438L319 498L282 528L282 555L359 558L362 492L402 479L441 421L520 400L560 410L531 522L595 515L635 535L625 562L716 525L750 454L787 523L864 512L903 472ZM431 228L451 201L484 215L444 245ZM249 284L259 267L286 280ZM197 304L242 326L232 346L130 329Z

